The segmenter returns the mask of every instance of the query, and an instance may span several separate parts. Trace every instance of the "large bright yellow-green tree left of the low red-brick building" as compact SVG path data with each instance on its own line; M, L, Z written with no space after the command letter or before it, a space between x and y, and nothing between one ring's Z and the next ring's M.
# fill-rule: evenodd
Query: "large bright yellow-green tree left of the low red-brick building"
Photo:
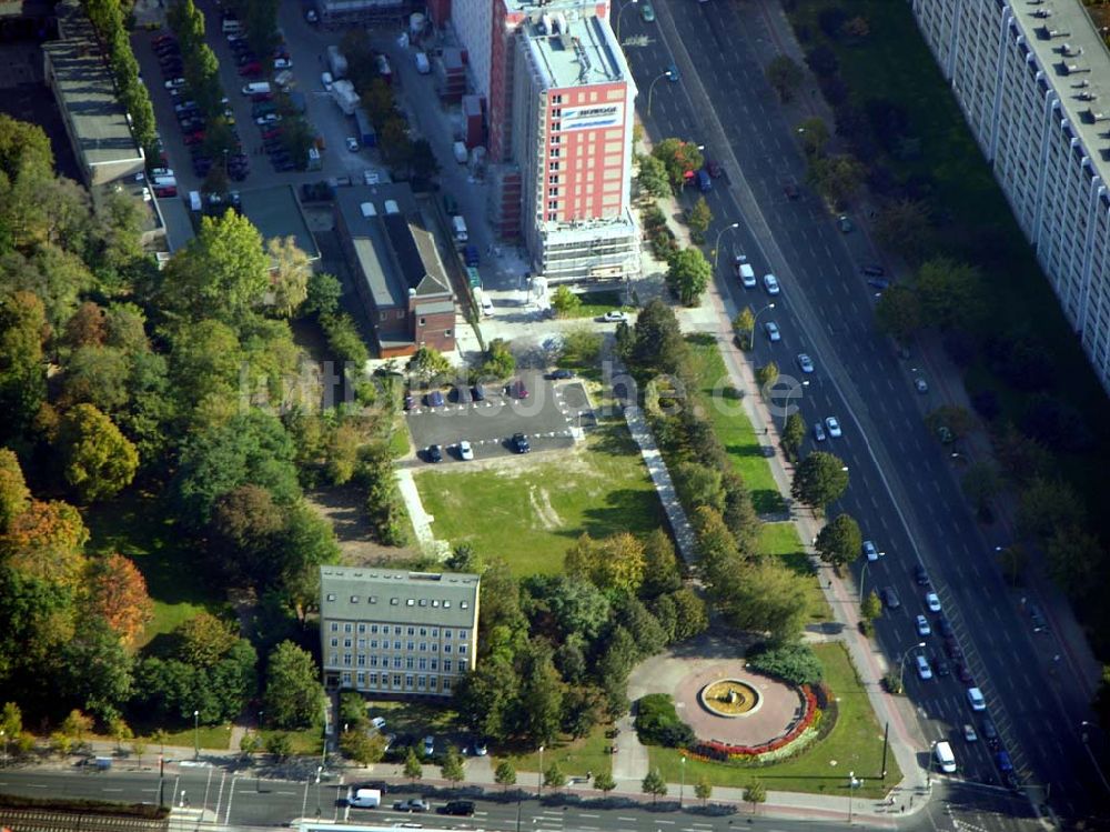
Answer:
M167 313L238 327L270 288L270 258L250 220L226 211L204 217L200 232L171 258L162 275Z

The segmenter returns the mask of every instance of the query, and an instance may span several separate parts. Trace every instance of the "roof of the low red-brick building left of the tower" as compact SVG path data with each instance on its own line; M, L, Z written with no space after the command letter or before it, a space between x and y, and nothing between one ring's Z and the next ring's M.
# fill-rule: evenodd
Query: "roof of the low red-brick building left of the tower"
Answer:
M374 305L407 307L417 295L451 294L432 233L404 183L341 188L335 208L351 233Z

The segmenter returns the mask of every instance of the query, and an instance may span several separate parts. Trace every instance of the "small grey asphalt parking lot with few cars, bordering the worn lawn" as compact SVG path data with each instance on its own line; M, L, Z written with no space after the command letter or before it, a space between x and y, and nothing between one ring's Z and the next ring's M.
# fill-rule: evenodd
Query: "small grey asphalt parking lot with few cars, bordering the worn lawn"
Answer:
M474 459L514 453L511 439L523 433L533 451L571 448L574 429L593 422L586 391L577 381L553 382L538 373L521 377L528 390L526 399L508 394L506 387L483 384L485 401L456 401L444 393L442 407L428 407L421 397L407 413L408 431L418 458L427 461L430 445L443 448L443 462L461 462L458 442L470 441Z

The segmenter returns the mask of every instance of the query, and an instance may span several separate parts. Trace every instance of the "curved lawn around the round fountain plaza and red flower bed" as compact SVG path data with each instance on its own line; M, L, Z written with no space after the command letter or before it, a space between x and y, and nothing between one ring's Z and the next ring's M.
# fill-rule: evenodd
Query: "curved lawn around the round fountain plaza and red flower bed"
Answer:
M856 671L844 645L817 644L814 651L825 666L825 680L839 700L839 718L833 732L791 760L761 768L687 760L686 783L708 778L714 785L743 786L759 778L769 790L840 795L847 793L848 772L856 772L864 785L858 796L878 798L901 780L894 754L887 755L887 779L878 779L882 765L882 728L871 712ZM650 764L658 766L669 783L677 783L679 752L650 746Z

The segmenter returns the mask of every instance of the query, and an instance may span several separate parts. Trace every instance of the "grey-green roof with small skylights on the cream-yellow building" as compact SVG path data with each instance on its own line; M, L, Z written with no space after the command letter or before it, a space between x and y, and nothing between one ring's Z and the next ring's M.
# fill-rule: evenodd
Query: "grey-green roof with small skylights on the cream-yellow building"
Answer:
M466 572L321 567L320 617L473 626L481 581Z

